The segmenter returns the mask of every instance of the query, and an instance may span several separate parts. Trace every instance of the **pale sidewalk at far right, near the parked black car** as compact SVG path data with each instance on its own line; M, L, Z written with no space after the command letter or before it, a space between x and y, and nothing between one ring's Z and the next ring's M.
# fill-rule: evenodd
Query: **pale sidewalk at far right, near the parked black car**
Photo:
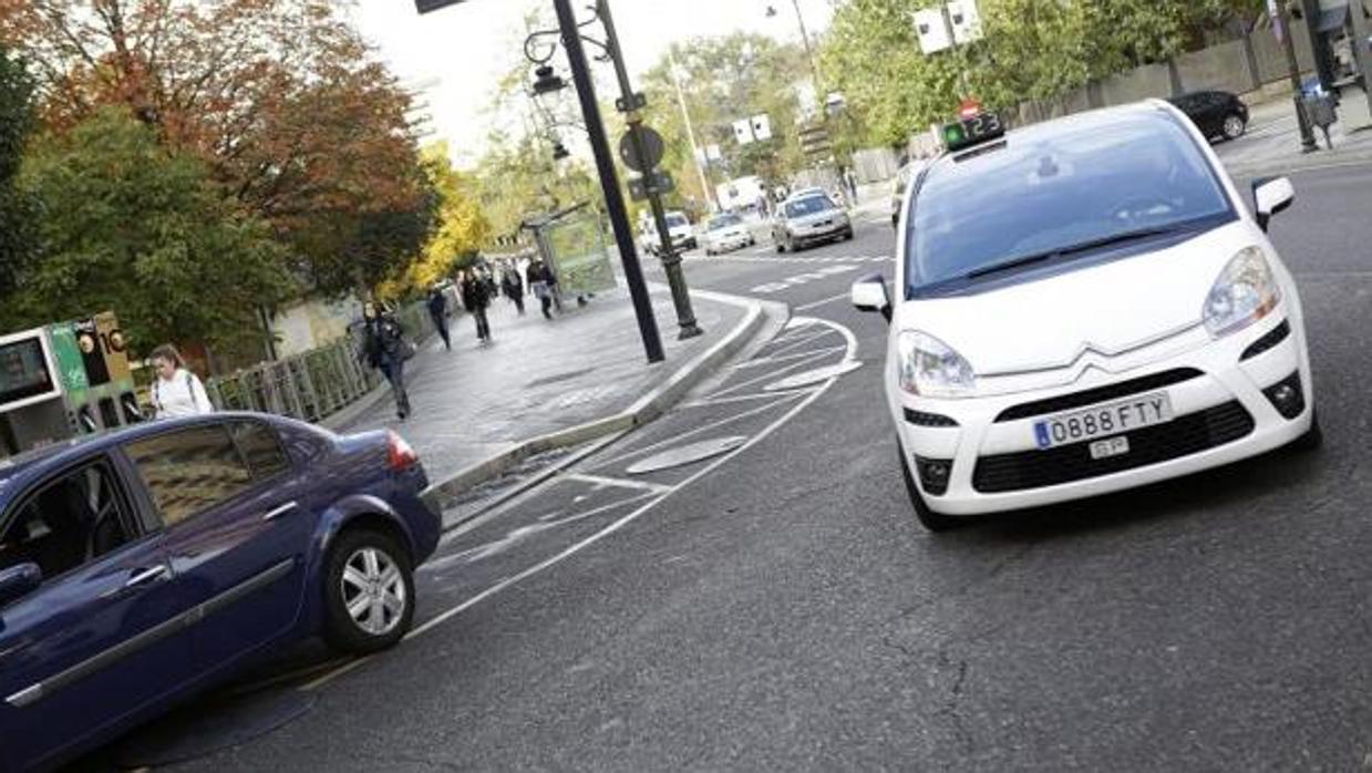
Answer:
M1231 174L1251 177L1281 174L1312 166L1372 161L1372 129L1345 133L1342 124L1329 128L1334 150L1324 144L1324 133L1314 132L1320 150L1301 152L1301 132L1291 96L1273 99L1249 108L1249 130L1238 140L1218 143L1214 151Z

